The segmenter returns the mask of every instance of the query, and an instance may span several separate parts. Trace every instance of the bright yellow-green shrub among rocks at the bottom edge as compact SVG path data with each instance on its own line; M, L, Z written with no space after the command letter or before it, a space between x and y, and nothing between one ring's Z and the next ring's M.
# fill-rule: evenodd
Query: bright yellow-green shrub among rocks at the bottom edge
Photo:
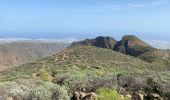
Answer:
M96 91L99 100L120 100L120 96L117 91L112 89L100 88Z

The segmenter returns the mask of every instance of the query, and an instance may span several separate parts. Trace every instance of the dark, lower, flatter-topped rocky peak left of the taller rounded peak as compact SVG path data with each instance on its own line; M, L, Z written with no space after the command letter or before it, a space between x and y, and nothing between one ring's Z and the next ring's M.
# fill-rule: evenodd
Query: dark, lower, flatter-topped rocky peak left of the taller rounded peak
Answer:
M117 41L112 37L99 36L99 37L96 37L95 39L86 39L84 41L74 42L72 46L88 45L88 46L96 46L96 47L101 47L101 48L113 49L116 42Z

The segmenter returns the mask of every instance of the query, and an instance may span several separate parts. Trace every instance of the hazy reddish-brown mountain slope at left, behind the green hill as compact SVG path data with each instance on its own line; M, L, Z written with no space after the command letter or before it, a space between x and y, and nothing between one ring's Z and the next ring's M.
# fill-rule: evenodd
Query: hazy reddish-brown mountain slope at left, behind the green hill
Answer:
M53 55L69 44L63 42L12 42L0 44L0 71Z

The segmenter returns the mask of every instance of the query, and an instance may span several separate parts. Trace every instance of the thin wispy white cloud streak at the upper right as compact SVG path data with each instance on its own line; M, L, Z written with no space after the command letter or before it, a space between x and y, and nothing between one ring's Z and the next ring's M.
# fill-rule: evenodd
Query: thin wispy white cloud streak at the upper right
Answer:
M103 5L86 5L82 6L81 9L76 9L77 11L106 11L106 10L121 10L121 9L129 9L129 8L142 8L142 7L154 7L154 6L162 6L167 4L167 0L155 0L155 1L146 1L140 3L133 2L124 2L124 3L110 3Z

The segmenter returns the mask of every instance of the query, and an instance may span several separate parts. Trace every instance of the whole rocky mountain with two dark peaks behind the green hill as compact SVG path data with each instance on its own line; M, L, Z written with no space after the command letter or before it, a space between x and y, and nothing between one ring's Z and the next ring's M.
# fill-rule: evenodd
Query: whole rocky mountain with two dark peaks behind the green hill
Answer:
M139 57L145 61L152 61L150 56L153 55L153 53L156 51L157 53L155 56L157 57L159 57L159 53L161 52L164 52L164 54L166 53L165 55L167 55L166 50L156 49L134 35L125 35L122 37L120 41L116 41L112 37L99 36L96 37L95 39L86 39L84 41L74 42L72 43L71 46L76 46L76 45L88 45L88 46L107 48L126 55ZM152 54L148 55L148 52L150 53L152 52Z

